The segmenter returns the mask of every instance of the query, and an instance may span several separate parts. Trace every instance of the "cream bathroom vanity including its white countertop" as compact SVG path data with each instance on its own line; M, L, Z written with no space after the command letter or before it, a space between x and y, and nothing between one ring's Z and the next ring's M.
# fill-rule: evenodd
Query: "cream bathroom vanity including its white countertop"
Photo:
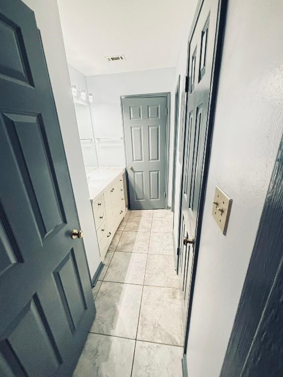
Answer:
M98 167L87 172L87 182L103 262L126 212L125 168Z

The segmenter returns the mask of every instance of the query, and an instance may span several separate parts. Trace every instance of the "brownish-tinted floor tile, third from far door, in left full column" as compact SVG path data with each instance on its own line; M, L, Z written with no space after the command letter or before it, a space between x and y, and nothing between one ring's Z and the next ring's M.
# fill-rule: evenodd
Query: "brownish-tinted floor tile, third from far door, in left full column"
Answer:
M124 231L117 245L116 251L130 253L147 253L150 232Z

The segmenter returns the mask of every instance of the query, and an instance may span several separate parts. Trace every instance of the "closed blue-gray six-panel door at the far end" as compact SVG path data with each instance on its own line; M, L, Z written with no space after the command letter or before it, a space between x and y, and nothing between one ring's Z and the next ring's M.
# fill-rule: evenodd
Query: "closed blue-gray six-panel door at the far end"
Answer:
M165 208L166 97L122 99L130 208Z

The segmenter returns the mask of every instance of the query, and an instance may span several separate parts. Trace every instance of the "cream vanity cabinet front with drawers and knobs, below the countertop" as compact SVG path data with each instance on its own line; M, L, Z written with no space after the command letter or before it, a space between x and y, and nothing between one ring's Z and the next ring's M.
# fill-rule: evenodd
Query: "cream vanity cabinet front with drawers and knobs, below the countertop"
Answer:
M100 256L103 261L126 212L122 174L92 201L92 210Z

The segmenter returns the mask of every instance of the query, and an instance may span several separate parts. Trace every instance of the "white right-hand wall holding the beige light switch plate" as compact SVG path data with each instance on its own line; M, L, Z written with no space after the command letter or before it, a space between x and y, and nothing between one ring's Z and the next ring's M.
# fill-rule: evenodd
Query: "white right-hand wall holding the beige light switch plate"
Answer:
M277 0L228 2L187 351L192 377L220 375L276 159L283 131L282 19ZM180 62L179 72L185 73ZM226 236L211 215L217 184L233 199Z

